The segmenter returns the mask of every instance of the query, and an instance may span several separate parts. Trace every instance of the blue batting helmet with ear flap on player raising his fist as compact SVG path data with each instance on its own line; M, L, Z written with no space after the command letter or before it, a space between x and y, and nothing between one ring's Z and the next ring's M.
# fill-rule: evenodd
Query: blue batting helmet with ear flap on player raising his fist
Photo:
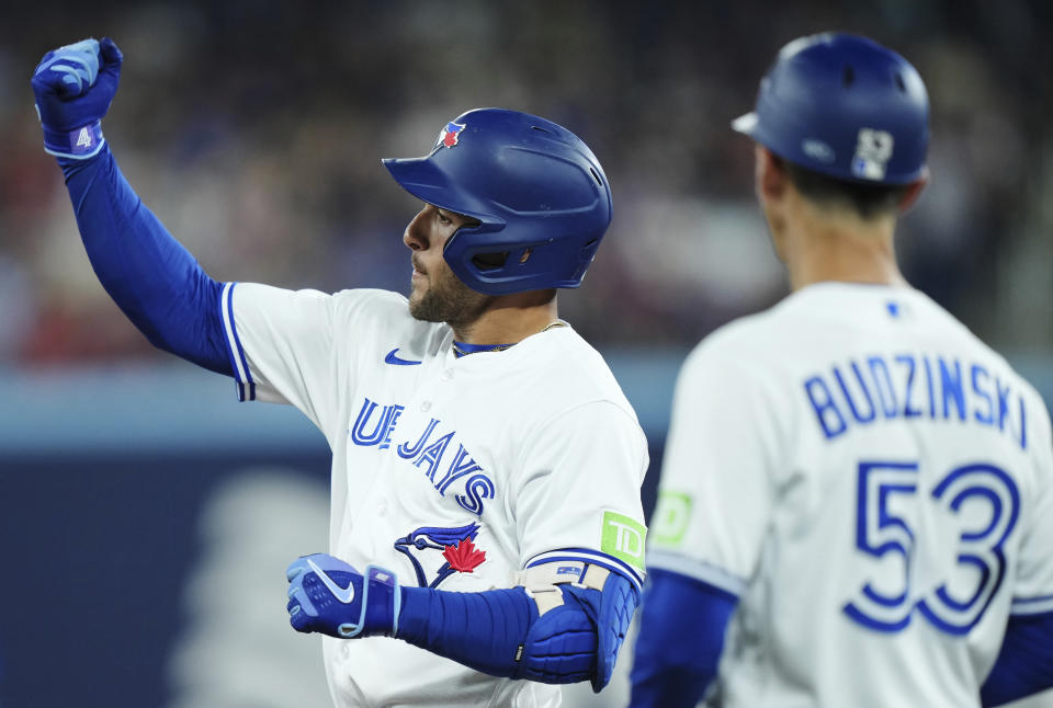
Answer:
M611 222L611 189L592 151L526 113L468 111L428 156L384 165L414 196L479 221L443 250L450 270L479 293L578 287ZM503 262L477 258L495 253Z

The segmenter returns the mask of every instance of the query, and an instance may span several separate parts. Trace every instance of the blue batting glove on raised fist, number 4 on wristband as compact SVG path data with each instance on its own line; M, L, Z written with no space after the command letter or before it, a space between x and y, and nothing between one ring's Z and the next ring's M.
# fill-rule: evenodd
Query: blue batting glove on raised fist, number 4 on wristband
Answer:
M87 160L102 149L101 121L117 92L123 58L109 37L44 55L32 84L48 153Z

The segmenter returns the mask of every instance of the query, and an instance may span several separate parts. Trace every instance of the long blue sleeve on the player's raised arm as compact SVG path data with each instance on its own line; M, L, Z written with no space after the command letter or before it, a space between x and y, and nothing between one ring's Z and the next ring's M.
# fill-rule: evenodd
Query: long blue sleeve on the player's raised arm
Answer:
M231 375L220 315L223 284L147 209L110 146L89 160L58 160L88 259L117 307L155 346Z

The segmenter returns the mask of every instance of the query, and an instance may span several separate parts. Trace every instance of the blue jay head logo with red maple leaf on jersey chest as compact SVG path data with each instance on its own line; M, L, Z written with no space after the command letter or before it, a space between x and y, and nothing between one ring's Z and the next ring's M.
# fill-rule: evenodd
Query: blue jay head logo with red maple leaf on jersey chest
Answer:
M485 551L473 546L478 534L478 524L453 528L421 526L396 540L395 550L412 563L419 586L435 587L455 572L472 572L486 559Z

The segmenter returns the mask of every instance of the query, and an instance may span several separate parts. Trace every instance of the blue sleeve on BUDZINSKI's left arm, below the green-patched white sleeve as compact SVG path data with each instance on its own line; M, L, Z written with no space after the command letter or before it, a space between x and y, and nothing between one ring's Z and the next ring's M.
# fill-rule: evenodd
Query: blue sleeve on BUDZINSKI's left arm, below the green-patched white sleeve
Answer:
M630 675L631 708L694 708L716 676L737 602L700 580L650 569Z

